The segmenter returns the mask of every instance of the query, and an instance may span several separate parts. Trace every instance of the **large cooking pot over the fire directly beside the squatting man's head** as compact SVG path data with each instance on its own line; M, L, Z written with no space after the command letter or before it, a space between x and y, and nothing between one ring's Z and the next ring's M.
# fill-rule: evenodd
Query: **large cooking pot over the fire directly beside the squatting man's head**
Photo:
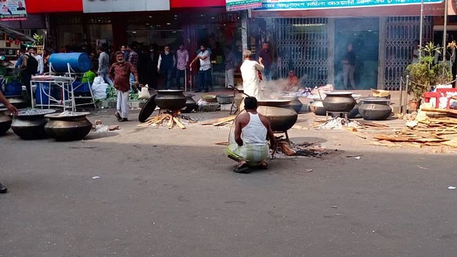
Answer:
M290 100L257 101L257 111L264 115L270 122L273 132L283 132L297 122L297 112L290 108Z

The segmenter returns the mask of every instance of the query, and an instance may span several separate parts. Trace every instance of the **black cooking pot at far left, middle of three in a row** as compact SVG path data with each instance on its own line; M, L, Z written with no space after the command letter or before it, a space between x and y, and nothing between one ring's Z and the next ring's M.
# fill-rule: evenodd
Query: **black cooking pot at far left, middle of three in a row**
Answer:
M20 110L18 115L13 117L11 130L13 130L14 134L17 134L21 139L44 139L47 137L44 125L46 125L49 121L44 117L44 115L55 112L56 110L42 109Z

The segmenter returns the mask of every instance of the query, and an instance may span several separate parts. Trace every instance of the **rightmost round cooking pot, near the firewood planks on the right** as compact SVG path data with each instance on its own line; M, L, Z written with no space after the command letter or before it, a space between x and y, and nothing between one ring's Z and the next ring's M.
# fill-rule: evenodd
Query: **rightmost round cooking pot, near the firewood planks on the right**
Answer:
M392 113L390 99L366 98L360 102L359 113L365 120L385 120Z

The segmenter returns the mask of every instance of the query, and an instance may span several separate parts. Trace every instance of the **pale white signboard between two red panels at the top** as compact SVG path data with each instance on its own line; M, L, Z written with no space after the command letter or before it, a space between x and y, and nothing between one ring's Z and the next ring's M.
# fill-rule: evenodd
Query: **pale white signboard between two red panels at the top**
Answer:
M169 11L169 0L82 0L84 13Z

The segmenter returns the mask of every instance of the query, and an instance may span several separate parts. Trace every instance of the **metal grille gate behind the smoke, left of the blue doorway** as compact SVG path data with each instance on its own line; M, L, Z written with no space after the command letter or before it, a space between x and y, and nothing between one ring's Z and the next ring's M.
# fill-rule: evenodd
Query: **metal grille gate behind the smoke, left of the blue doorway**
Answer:
M303 87L327 84L328 27L327 18L273 19L278 56L273 77L285 78L289 70L295 70Z

